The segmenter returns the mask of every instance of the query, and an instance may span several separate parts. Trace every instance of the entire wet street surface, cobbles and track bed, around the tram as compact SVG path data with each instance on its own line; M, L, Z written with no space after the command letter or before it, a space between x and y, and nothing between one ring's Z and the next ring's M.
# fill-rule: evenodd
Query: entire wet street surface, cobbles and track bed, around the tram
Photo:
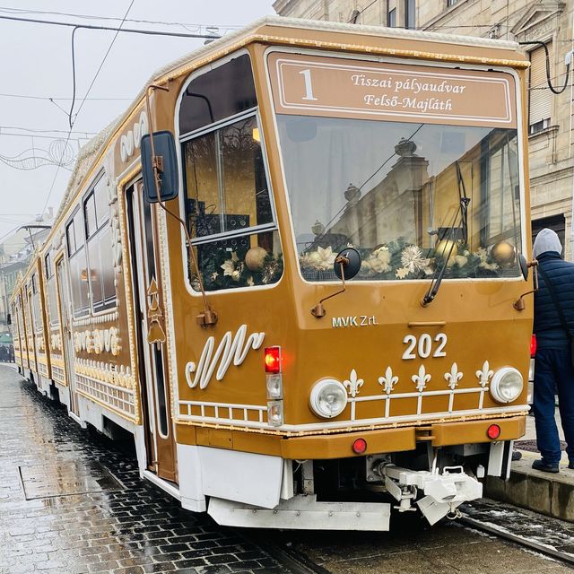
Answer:
M140 480L133 448L83 431L36 387L0 366L0 573L290 570L272 557L287 545L333 574L561 574L559 562L459 523L428 526L394 514L390 533L258 532L218 526ZM490 506L489 506L490 505ZM478 513L478 514L476 514ZM475 517L507 524L563 550L574 525L500 503Z

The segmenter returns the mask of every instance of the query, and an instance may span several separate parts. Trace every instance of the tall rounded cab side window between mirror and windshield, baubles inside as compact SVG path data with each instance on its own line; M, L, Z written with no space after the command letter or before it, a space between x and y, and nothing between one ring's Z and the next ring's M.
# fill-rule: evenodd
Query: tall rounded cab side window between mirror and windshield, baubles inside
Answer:
M283 254L248 56L198 76L186 93L179 115L186 215L204 287L215 291L276 283ZM199 289L193 272L191 283Z

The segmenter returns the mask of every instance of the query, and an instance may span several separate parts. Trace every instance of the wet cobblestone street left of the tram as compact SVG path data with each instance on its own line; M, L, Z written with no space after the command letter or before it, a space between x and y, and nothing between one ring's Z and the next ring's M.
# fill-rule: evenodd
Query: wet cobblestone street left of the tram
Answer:
M0 366L0 388L3 574L288 571L140 480L128 445L83 431L15 370Z

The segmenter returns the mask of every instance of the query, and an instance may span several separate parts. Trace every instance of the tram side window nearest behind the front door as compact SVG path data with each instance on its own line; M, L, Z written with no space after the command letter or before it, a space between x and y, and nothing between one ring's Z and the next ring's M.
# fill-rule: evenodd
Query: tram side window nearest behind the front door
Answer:
M104 178L100 178L85 199L83 213L88 246L91 306L94 311L100 311L116 304L108 188Z

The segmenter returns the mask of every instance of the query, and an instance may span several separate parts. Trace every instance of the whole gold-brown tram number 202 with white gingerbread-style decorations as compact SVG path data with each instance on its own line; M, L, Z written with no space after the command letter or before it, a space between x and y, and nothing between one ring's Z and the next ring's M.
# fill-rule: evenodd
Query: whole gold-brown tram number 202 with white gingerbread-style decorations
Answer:
M83 149L14 290L22 374L222 524L386 530L479 498L528 409L527 65L266 18L167 66Z

